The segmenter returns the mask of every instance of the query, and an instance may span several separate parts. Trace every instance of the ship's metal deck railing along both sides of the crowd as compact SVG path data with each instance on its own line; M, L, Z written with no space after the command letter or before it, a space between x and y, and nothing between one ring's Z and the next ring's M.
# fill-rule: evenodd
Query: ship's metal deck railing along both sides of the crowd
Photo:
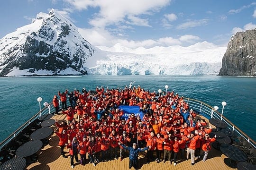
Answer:
M193 109L198 112L198 114L204 116L207 119L210 119L211 117L215 119L221 119L221 114L217 111L214 110L213 107L210 105L183 97L184 101L187 102L190 106L190 109ZM68 101L67 101L68 102ZM69 105L69 102L67 103ZM59 104L59 107L61 104ZM60 108L59 108L60 109ZM13 132L10 136L8 136L5 140L3 140L0 143L0 149L2 149L4 146L6 146L12 139L14 139L23 129L25 129L30 123L35 121L36 119L39 119L40 117L43 117L46 114L51 114L55 112L55 108L53 106L53 103L49 103L48 106L43 108L41 111L37 112L35 116L33 116L31 119L29 119L26 123L24 123L21 127L19 127L15 132ZM244 137L250 144L252 144L254 147L256 147L256 142L251 139L249 136L247 136L242 130L240 130L238 127L236 127L232 122L230 122L227 118L222 116L222 120L228 124L228 128L231 130L234 130L237 132L240 136Z

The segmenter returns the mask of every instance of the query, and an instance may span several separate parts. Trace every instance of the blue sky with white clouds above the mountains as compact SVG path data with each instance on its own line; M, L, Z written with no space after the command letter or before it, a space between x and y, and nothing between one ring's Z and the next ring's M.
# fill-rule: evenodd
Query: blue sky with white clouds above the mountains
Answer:
M95 46L227 46L256 28L256 0L1 0L0 38L52 8Z

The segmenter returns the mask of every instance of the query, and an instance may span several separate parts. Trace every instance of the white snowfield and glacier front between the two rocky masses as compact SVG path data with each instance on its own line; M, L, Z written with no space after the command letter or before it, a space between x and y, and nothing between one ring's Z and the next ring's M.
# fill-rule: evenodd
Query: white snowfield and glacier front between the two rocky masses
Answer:
M189 47L170 46L129 49L121 44L100 47L105 59L97 52L88 59L88 74L100 75L217 75L226 47L209 42ZM108 51L108 52L107 52ZM95 58L94 58L95 57Z

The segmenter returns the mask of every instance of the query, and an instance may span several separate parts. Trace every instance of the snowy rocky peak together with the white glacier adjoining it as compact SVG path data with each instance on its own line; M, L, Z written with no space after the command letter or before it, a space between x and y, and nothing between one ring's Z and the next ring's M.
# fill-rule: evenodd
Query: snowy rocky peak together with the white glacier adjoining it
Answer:
M86 39L86 38L85 38ZM226 47L94 47L52 9L0 39L0 76L217 75Z

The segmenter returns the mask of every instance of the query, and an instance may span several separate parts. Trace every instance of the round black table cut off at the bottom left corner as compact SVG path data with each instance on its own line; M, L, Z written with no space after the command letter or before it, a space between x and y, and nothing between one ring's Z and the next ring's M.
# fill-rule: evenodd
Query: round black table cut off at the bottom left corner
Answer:
M26 167L26 159L23 157L12 158L0 165L0 170L23 170Z

